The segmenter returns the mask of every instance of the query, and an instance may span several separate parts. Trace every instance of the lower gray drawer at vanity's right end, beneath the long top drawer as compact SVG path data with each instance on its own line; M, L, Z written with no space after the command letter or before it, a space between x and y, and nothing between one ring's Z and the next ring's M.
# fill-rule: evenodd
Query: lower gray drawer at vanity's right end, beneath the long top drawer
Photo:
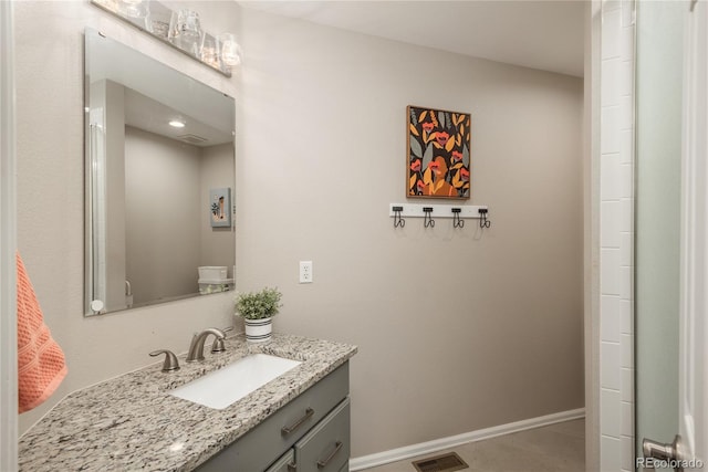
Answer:
M295 443L298 472L339 472L350 459L350 399Z

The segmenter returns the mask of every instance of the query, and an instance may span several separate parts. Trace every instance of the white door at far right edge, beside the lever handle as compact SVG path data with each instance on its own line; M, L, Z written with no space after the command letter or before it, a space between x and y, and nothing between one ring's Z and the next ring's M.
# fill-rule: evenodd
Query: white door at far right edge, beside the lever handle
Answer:
M708 459L708 6L691 2L684 53L679 433L684 459ZM691 469L686 469L691 470Z

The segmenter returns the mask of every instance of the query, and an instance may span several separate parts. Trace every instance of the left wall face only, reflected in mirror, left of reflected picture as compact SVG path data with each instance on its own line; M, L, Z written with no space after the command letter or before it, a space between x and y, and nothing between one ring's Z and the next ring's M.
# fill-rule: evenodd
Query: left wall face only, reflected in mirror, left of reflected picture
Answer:
M196 249L209 225L200 168L198 147L125 127L126 276L135 304L198 290Z

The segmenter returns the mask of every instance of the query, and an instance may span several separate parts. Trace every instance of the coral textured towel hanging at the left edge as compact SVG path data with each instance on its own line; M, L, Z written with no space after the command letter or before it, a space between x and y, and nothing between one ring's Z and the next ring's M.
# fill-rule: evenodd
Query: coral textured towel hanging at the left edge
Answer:
M18 263L18 387L19 411L46 400L66 376L64 353L44 324L34 289L20 254Z

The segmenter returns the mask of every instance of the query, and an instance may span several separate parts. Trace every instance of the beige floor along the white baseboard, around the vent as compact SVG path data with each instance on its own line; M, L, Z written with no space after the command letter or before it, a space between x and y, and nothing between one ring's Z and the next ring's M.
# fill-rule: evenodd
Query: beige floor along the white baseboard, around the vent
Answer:
M585 420L564 421L542 428L470 442L449 450L394 462L366 472L416 472L410 463L455 451L475 472L584 472Z

